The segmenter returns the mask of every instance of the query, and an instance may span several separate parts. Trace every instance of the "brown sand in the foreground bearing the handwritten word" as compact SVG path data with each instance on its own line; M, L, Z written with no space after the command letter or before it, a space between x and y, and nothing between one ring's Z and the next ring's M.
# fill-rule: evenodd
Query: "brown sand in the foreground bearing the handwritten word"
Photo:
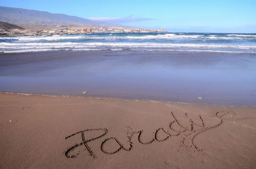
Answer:
M256 107L0 93L2 169L255 169Z

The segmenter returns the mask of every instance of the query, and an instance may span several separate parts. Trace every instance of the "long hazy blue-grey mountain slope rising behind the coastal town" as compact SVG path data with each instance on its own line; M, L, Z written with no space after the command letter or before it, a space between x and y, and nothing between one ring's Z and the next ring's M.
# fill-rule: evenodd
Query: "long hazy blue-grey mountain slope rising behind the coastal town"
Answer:
M0 6L0 21L16 25L77 25L93 27L120 27L120 25L87 20L81 17L70 16L66 14L52 14L47 11L36 11L5 6Z

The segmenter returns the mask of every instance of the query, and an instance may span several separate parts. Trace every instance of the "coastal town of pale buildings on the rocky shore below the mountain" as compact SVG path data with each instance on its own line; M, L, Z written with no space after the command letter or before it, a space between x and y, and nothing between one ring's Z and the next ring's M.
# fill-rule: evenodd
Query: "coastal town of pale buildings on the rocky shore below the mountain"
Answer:
M162 29L141 29L122 27L81 27L69 26L27 26L19 25L15 29L0 29L0 36L36 36L36 35L61 35L61 34L97 34L97 33L160 33Z

